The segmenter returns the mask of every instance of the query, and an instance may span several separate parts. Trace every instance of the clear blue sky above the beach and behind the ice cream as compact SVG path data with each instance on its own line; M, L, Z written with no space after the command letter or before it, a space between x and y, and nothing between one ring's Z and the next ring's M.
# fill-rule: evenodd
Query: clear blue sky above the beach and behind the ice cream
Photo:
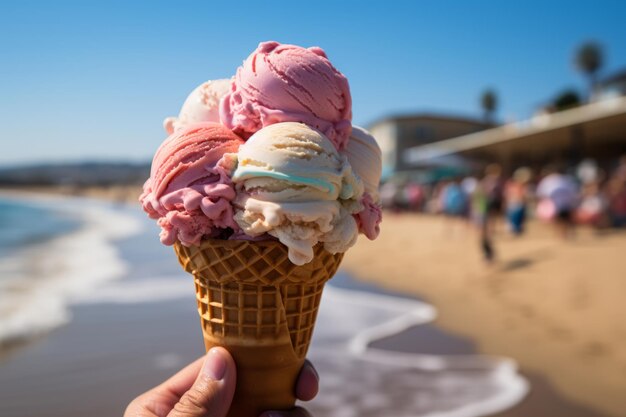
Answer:
M576 47L597 40L603 74L626 68L620 1L13 1L0 12L0 166L147 161L202 81L260 41L321 46L350 80L354 122L396 113L526 118L585 88Z

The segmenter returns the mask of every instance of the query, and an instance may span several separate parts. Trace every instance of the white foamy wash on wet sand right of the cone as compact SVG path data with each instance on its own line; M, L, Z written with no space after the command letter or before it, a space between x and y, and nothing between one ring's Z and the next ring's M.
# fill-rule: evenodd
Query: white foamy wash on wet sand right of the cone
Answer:
M509 358L423 354L419 336L413 352L372 347L435 317L435 308L420 301L330 286L309 352L324 375L313 414L476 417L524 398L528 382Z

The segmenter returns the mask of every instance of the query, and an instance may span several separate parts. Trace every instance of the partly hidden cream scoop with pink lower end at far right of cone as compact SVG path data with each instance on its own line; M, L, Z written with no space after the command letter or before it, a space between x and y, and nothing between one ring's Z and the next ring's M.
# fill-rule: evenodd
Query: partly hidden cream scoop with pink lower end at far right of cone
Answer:
M359 231L374 240L380 233L382 210L378 186L382 175L382 153L376 139L365 129L352 127L348 146L343 151L354 172L361 178L365 193L361 199L363 209L355 214Z

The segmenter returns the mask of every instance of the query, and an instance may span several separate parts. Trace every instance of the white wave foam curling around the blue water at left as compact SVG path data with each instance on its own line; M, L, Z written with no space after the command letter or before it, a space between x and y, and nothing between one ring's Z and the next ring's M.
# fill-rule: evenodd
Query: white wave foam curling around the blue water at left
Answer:
M68 322L74 299L123 276L127 266L114 241L141 228L135 217L102 202L2 196L71 216L80 227L0 259L0 346L26 341Z

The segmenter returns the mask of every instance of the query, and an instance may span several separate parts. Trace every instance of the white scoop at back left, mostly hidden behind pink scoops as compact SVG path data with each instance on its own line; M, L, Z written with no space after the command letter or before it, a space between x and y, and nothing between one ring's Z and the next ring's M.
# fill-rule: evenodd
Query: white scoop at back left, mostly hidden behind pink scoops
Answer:
M220 99L230 91L231 79L210 80L196 87L180 108L178 117L168 117L163 128L168 135L198 122L220 122Z

